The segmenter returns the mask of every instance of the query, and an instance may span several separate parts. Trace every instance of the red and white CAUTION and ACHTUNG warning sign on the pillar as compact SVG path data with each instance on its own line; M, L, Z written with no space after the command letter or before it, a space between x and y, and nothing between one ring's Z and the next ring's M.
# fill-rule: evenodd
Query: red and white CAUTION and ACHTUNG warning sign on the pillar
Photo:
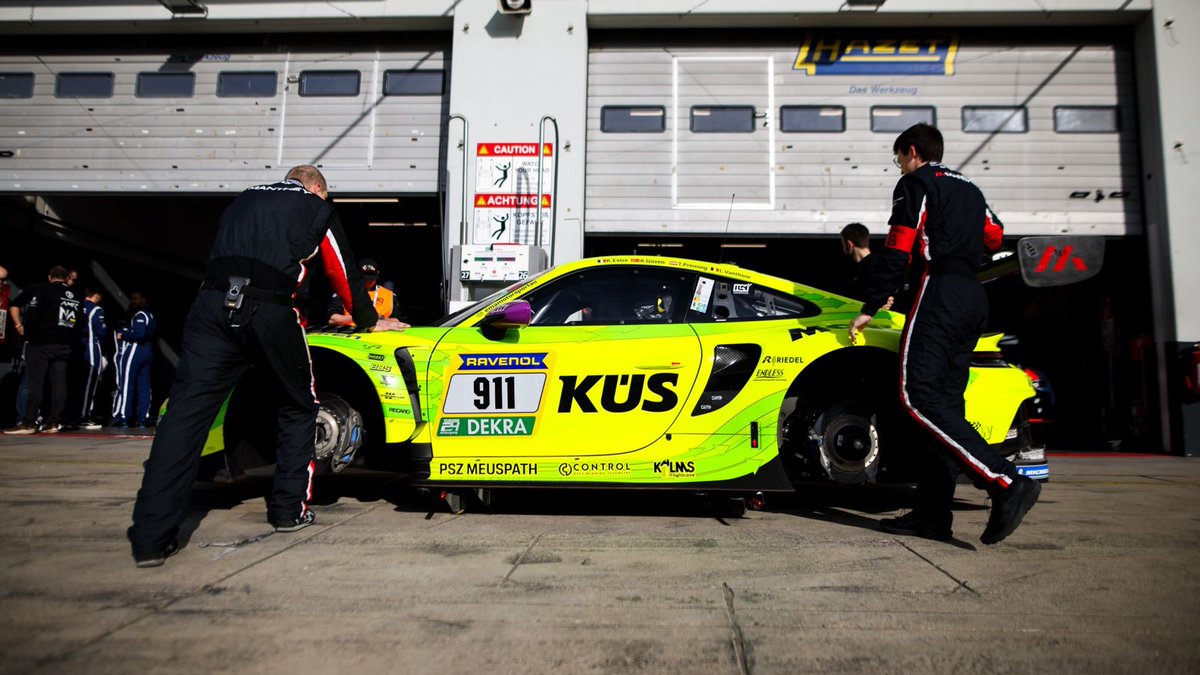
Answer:
M554 149L550 143L476 144L473 243L534 244L539 226L541 240L550 241L551 197L546 191L552 185L553 163Z

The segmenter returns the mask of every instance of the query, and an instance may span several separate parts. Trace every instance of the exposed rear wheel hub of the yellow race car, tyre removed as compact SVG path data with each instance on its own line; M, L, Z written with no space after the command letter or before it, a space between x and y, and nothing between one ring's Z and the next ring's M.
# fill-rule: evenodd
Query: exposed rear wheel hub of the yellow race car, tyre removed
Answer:
M816 416L809 438L826 474L835 483L874 483L880 471L880 432L875 414L839 404Z

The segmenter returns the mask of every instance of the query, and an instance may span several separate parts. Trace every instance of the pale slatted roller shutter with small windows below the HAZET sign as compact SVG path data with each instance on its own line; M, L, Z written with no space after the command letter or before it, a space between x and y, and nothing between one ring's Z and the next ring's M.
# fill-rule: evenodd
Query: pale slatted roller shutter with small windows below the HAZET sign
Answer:
M798 43L797 43L798 44ZM722 61L710 72L706 59L757 56L774 70L774 106L761 78L733 73ZM874 106L931 106L946 136L946 163L983 187L1013 234L1138 234L1142 228L1133 60L1116 43L1072 42L994 44L960 41L952 76L810 76L792 68L797 46L720 44L626 46L595 43L588 67L587 219L588 232L691 234L725 232L722 209L688 208L684 197L728 204L730 195L754 193L763 154L761 129L751 135L694 135L686 108L696 101L754 106L758 120L776 126L773 149L773 208L734 211L734 234L836 233L850 221L886 227L887 207L899 177L892 166L894 132L871 131ZM673 66L679 110L672 117ZM688 61L692 59L692 61ZM736 61L733 61L736 62ZM722 74L722 68L725 72ZM694 73L703 73L697 79ZM690 79L689 79L690 77ZM691 84L689 84L689 82ZM691 89L689 89L691 88ZM665 106L661 133L605 133L604 106ZM845 107L840 133L784 132L782 106ZM962 108L1026 108L1025 133L968 133ZM1116 106L1115 133L1061 133L1057 106ZM704 137L710 137L704 138ZM707 141L707 143L706 143ZM678 192L672 199L672 184ZM1087 197L1081 197L1086 193ZM1100 198L1097 198L1097 195Z

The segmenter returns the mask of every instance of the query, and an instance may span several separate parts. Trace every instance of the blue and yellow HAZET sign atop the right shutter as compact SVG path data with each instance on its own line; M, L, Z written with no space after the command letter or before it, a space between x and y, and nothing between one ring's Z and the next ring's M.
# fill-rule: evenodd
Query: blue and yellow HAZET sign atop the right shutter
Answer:
M959 36L914 38L806 35L792 70L808 74L954 74Z

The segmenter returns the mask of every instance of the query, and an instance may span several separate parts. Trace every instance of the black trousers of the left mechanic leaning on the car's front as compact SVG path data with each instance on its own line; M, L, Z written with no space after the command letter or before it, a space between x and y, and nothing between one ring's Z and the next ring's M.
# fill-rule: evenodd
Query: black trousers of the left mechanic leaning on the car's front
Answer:
M178 533L209 428L229 390L251 365L274 380L278 405L268 520L287 524L308 509L317 398L304 329L292 307L253 298L242 300L242 309L230 323L223 300L220 291L200 291L187 315L170 401L150 447L133 507L128 537L134 554L157 552Z

